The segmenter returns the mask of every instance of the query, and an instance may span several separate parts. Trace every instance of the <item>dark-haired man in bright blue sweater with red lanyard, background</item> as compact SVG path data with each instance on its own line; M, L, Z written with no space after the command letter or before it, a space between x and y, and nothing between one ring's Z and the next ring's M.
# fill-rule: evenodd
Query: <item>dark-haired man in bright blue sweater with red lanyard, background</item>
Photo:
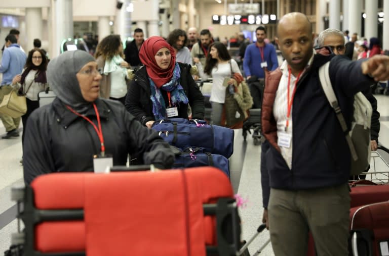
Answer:
M273 44L265 43L266 29L263 26L255 30L257 42L247 46L243 59L243 69L249 80L251 76L264 78L264 68L275 70L278 67L276 48Z

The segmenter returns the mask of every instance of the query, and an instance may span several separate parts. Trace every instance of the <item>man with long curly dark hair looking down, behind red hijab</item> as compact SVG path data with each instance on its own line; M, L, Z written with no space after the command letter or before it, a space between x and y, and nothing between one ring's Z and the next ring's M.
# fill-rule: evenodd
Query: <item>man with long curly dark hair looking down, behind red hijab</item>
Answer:
M192 64L192 57L190 51L186 47L186 33L182 29L173 30L166 40L173 48L176 53L176 61L181 63Z

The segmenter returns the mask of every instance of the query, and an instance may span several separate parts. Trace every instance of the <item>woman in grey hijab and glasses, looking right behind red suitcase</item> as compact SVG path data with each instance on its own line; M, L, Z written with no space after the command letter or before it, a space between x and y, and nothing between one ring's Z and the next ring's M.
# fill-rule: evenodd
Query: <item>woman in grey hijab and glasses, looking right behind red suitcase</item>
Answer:
M51 172L92 172L93 157L111 155L126 165L128 153L144 164L170 168L174 155L158 133L147 129L113 100L99 98L101 74L82 50L50 61L47 78L57 98L28 119L24 141L24 181Z

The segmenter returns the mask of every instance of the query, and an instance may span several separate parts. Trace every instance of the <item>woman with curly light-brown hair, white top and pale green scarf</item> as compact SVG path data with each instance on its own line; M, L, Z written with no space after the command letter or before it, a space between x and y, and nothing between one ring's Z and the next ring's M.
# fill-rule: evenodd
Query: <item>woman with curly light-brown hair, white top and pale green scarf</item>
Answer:
M108 35L97 45L95 58L102 75L100 97L120 101L124 105L127 94L127 69L120 35Z

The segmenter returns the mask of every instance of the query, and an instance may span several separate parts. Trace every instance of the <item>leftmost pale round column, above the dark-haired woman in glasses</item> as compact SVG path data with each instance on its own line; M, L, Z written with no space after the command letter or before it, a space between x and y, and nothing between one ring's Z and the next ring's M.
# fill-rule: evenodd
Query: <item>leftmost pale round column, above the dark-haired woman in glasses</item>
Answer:
M26 53L33 48L34 38L42 40L43 22L42 22L42 8L26 8L26 32L27 48Z

